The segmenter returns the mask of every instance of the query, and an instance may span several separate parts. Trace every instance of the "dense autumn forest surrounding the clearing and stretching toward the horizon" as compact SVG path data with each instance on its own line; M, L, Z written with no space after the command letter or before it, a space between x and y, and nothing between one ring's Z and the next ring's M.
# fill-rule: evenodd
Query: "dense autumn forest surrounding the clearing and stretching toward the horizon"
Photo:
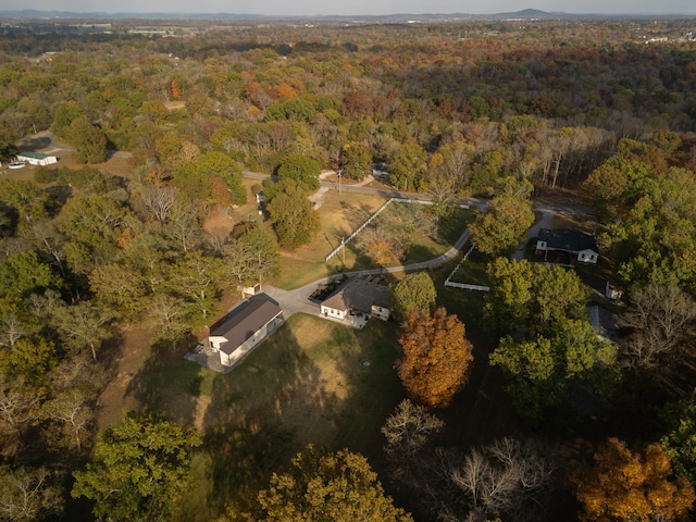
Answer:
M219 462L201 517L694 517L694 20L129 24L0 30L0 161L55 144L72 161L0 176L0 519L211 520L184 506L191 462L238 440L145 406L100 426L127 377L113 347L142 328L148 350L186 349L221 296L278 277L320 229L321 170L384 171L432 201L365 234L375 265L403 258L403 231L488 201L470 229L490 291L468 307L425 273L396 281L403 388L384 447L274 434L296 457ZM108 173L119 154L126 172ZM274 176L249 190L246 171ZM261 189L263 217L211 224ZM536 201L592 216L624 293L614 343L589 325L582 274L510 261ZM507 415L488 438L462 427L481 422L482 381Z

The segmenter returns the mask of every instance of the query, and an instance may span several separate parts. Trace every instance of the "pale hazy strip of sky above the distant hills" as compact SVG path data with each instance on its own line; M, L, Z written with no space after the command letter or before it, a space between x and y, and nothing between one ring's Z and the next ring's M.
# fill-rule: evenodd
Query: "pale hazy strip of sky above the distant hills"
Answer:
M494 14L523 9L596 14L696 14L696 0L0 0L0 11L38 9L105 13L371 15Z

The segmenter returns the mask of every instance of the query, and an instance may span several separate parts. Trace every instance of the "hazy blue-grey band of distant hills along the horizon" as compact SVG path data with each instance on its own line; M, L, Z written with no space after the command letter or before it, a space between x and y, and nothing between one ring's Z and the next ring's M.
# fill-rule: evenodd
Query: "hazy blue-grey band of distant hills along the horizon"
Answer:
M240 20L240 21L282 21L282 20L324 20L324 21L381 21L381 22L433 22L455 20L561 20L561 18L674 18L696 17L696 14L579 14L566 12L547 12L538 9L524 9L510 13L470 14L470 13L394 13L384 15L269 15L269 14L236 14L236 13L107 13L107 12L74 12L74 11L39 11L34 9L0 11L0 18L78 18L78 20Z

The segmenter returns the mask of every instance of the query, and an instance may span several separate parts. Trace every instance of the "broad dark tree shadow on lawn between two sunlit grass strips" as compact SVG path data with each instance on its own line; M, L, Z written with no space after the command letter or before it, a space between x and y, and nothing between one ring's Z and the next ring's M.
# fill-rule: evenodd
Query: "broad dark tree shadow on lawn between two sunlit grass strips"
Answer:
M215 378L203 421L209 514L253 495L307 444L323 442L336 402L324 388L288 324Z

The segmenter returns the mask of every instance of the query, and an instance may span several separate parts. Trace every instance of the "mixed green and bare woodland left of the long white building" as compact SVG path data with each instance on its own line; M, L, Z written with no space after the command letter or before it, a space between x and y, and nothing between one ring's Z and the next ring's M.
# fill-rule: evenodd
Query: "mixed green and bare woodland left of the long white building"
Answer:
M222 291L279 270L270 229L233 227L228 217L228 226L203 227L221 208L210 186L186 191L87 166L38 169L36 177L42 183L0 183L7 520L60 511L61 485L94 445L97 399L113 377L120 327L152 327L150 343L169 350L211 321ZM220 194L228 209L231 189Z

